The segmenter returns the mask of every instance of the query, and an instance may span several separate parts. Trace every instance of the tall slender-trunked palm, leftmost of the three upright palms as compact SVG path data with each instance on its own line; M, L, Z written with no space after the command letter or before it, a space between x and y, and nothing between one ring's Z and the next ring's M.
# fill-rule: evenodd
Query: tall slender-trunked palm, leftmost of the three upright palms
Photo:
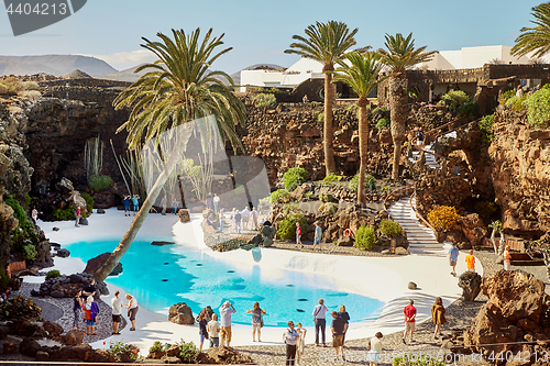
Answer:
M334 151L332 148L332 74L334 64L341 60L345 51L355 45L354 35L358 29L350 32L345 23L330 21L328 23L317 22L306 29L307 37L294 35L293 40L299 42L290 44L292 49L286 49L286 54L297 54L301 57L311 58L321 63L324 73L324 127L323 127L323 149L324 167L327 176L337 173L334 164Z

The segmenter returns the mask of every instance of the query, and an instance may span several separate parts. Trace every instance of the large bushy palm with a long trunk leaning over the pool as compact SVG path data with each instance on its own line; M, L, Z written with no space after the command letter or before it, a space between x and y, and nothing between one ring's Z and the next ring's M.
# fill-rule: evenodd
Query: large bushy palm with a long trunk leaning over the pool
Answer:
M244 122L244 106L223 84L228 81L233 85L231 77L222 71L209 70L218 57L232 48L217 52L217 47L223 44L223 34L211 37L212 29L202 41L199 40L200 29L188 35L183 30L172 30L172 33L174 40L162 33L157 33L162 42L143 38L146 44L142 47L153 52L158 59L139 67L135 73L144 69L148 73L114 100L113 106L117 109L132 108L128 121L117 132L128 130L129 147L138 148L142 140L158 141L162 134L180 130L175 127L189 126L189 122L211 115L216 118L219 131L231 142L233 148L242 148L234 125ZM132 244L153 202L182 158L182 149L185 149L182 145L187 143L189 135L190 132L187 131L186 135L179 137L178 148L163 152L166 154L163 171L129 231L109 259L94 275L96 279L107 278Z

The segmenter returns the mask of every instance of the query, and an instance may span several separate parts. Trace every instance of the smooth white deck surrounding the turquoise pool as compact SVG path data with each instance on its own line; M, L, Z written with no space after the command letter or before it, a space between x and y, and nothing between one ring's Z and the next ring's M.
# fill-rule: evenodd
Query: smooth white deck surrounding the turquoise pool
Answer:
M74 222L68 221L42 222L40 220L38 225L44 230L51 242L59 243L63 246L77 241L122 237L130 228L132 219L133 217L124 217L123 211L109 209L106 210L106 214L92 214L89 218L88 226L80 225L80 228L76 228ZM238 266L250 267L257 265L251 260L251 252L218 253L207 248L201 239L199 224L200 219L198 215L194 215L190 223L182 224L176 215L150 214L140 230L139 236L172 234L174 241L178 243L184 239L189 242L193 237L190 235L194 235L197 247L204 248L206 255L223 258ZM59 228L59 231L53 231L54 226ZM197 233L200 234L197 235ZM461 253L457 266L458 274L466 270L464 258L465 254ZM58 269L62 274L81 271L85 267L85 263L78 258L55 257L54 262L55 269ZM146 266L145 263L143 265ZM441 255L413 254L398 257L359 257L263 248L261 266L262 270L265 269L267 273L270 270L276 273L277 270L292 269L322 274L332 278L331 284L328 284L331 289L355 292L386 302L382 314L374 322L352 322L346 333L348 340L370 337L378 331L388 334L403 330L403 308L408 304L409 299L415 300L417 321L421 322L431 319L430 309L436 297L441 297L447 307L459 299L462 293L462 289L457 286L459 278L450 275L449 259L443 251L441 251ZM479 260L476 260L476 271L483 275L483 268ZM43 280L44 277L25 277L25 281L42 282ZM409 281L417 284L418 289L409 290L407 288ZM111 295L103 296L103 301L110 303L112 293L117 289L121 291L121 298L124 297L123 289L111 284L108 284L108 286ZM139 301L140 299L138 299ZM218 313L217 309L213 310ZM246 309L237 310L245 311ZM353 320L353 314L351 317ZM330 317L328 315L328 318ZM308 330L306 343L314 343L315 326L312 321L304 325ZM330 320L328 319L329 326ZM262 344L283 344L283 328L263 328ZM233 324L232 332L232 346L258 344L252 342L251 325ZM110 340L130 342L138 345L141 353L146 355L155 341L176 342L184 339L186 342L193 341L195 344L199 342L197 324L178 325L170 323L165 314L148 311L143 306L140 306L138 312L136 331L131 332L130 326L127 326L121 333L121 335L106 340L106 344L100 341L91 345L94 347L108 347ZM330 329L327 329L327 341L329 341L329 334ZM204 348L208 348L208 341L205 342Z

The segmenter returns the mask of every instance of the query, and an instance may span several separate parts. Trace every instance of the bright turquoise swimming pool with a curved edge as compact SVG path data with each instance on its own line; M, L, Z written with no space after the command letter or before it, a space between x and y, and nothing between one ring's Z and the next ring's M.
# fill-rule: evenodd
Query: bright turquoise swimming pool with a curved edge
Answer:
M311 312L319 298L324 299L330 311L338 311L344 304L352 322L374 320L385 304L358 293L328 288L331 280L322 275L266 270L261 263L243 269L187 246L155 246L151 244L153 240L170 237L134 242L121 260L123 273L108 278L151 311L167 314L172 304L186 302L195 314L206 306L218 313L218 308L230 300L237 309L233 322L250 324L251 314L246 314L246 310L258 301L267 312L265 325L286 326L288 320L311 325ZM77 242L66 247L72 256L87 262L112 252L118 243L118 240Z

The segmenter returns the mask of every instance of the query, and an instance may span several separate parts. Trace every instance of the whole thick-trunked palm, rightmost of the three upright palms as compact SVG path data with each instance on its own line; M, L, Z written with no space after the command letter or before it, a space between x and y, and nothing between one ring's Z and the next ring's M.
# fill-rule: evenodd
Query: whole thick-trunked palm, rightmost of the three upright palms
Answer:
M387 51L381 49L383 63L389 68L389 107L392 119L392 137L394 140L394 163L392 178L399 176L399 159L402 157L402 145L405 141L405 122L409 114L407 74L417 64L429 60L435 52L425 51L427 46L415 49L413 33L406 38L397 33L395 36L386 33L385 46Z

